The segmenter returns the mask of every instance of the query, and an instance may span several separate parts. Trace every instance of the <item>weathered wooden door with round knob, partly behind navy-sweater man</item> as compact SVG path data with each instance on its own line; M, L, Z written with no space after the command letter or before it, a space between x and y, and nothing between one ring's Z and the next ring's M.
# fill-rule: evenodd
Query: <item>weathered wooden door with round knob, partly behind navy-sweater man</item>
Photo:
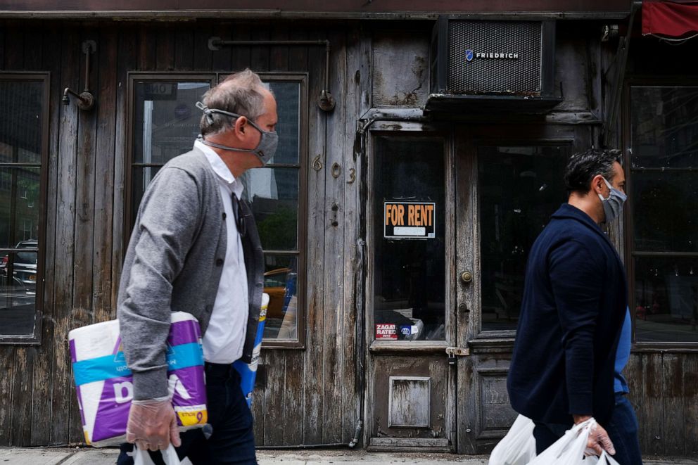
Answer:
M564 167L590 136L563 125L455 129L459 453L490 452L516 419L507 372L528 250L566 201Z

